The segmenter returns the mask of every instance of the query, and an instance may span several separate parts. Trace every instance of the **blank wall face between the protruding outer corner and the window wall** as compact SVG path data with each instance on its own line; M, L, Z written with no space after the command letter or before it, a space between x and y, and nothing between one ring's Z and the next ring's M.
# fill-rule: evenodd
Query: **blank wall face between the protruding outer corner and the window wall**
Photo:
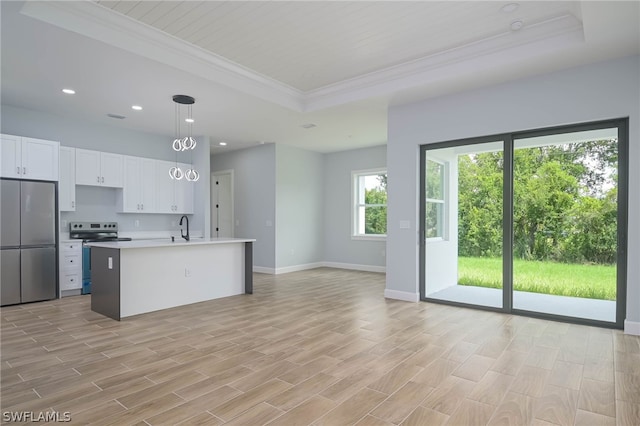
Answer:
M324 260L323 155L276 146L276 269Z

